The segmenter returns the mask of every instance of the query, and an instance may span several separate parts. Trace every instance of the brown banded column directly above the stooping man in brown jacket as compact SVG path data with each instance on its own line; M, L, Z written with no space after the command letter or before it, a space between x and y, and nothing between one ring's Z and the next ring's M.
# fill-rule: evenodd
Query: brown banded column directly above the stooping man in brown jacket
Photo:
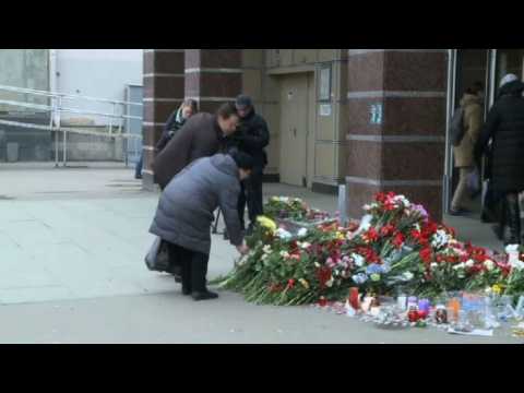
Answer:
M214 112L242 91L242 49L186 49L186 97Z

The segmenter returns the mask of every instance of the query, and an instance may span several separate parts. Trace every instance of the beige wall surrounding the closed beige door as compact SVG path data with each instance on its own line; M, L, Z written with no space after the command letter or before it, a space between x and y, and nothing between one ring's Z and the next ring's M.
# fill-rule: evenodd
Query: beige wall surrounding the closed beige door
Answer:
M346 69L341 49L245 49L243 50L243 91L253 96L258 111L264 116L271 132L267 148L267 174L279 171L279 123L281 123L281 86L279 79L296 72L314 72L314 112L309 114L314 141L308 152L308 167L313 170L313 182L336 184L344 178L342 171L345 157L342 144L345 121L341 118L341 100L346 95L344 81ZM324 64L332 67L332 97L329 102L319 102L319 70ZM321 116L320 105L331 105L331 115ZM303 108L305 116L307 108Z

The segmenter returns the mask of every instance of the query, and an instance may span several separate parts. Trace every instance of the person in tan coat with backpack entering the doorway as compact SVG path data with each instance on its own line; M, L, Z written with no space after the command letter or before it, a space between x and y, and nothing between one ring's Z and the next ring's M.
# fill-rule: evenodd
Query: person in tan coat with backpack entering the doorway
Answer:
M458 168L460 178L453 200L451 202L451 215L469 213L469 211L465 207L465 203L466 199L468 198L468 176L472 176L476 167L476 160L474 157L475 144L483 127L484 109L481 92L483 86L477 82L475 85L466 90L466 93L461 99L461 107L464 114L464 136L462 138L458 146L453 147L455 168Z

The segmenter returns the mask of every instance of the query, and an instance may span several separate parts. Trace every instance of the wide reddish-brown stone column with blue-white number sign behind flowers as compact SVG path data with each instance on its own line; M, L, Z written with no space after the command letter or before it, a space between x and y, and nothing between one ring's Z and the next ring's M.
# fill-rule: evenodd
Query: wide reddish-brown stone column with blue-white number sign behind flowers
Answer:
M346 184L352 217L378 191L442 217L448 55L444 49L349 49Z

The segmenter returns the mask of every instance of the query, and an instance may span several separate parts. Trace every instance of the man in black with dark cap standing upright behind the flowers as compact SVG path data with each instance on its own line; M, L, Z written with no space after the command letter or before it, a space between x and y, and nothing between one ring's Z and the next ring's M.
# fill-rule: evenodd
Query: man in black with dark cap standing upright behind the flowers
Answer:
M262 202L262 178L265 166L267 165L267 154L265 147L270 144L270 131L265 120L255 112L251 97L239 95L236 104L237 112L240 117L238 131L229 139L228 144L253 157L253 172L250 178L242 182L240 198L238 200L238 214L242 229L245 225L246 203L249 213L249 230L251 231L257 221L257 216L263 213Z

